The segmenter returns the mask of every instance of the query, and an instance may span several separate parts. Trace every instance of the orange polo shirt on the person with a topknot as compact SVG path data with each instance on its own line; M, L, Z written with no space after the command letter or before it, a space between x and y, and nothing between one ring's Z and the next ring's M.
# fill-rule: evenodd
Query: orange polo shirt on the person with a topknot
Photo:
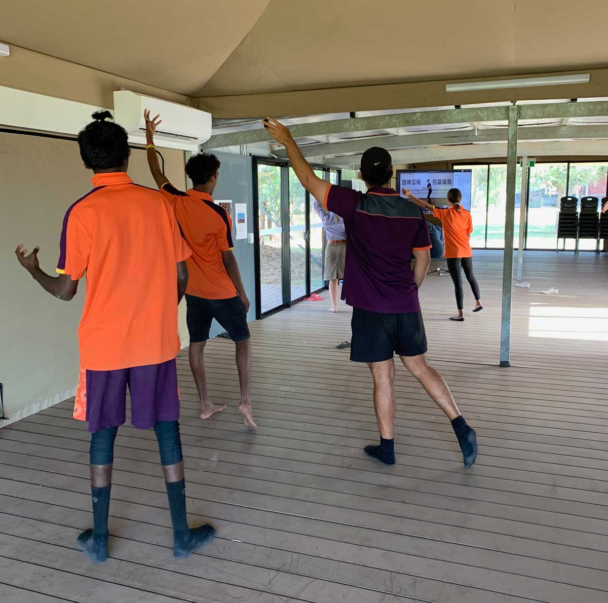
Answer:
M169 204L125 172L95 174L63 219L57 272L86 274L80 366L167 362L179 351L177 263L192 253Z

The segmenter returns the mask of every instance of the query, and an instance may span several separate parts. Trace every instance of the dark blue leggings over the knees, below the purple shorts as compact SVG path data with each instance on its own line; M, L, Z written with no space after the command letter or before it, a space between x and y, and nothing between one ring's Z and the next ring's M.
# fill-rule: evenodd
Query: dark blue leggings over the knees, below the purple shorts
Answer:
M118 427L106 427L91 434L89 455L92 465L109 465L114 460L114 439ZM156 421L154 433L158 440L163 466L174 465L182 461L182 443L179 438L177 421Z

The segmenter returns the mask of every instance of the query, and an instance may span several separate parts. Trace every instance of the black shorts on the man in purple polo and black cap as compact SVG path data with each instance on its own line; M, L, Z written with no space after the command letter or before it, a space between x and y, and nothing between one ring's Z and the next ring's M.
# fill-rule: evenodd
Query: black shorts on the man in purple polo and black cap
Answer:
M385 314L353 308L350 359L384 362L399 356L420 356L427 351L422 312Z

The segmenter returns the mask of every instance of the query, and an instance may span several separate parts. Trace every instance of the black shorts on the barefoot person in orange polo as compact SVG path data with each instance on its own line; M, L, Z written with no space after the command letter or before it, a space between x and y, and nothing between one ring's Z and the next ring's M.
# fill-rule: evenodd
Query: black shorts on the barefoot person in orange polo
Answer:
M227 331L232 341L249 339L247 314L238 295L227 300L208 300L195 295L186 295L185 298L190 343L199 343L209 339L209 329L213 319L217 320Z

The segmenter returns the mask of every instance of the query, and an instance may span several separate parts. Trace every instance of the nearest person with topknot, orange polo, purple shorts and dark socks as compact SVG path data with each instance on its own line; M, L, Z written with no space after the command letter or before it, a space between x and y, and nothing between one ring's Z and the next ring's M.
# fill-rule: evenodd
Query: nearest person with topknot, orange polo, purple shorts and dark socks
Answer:
M80 156L92 170L93 189L67 210L60 239L58 277L38 264L38 247L16 256L43 289L71 300L86 274L78 340L80 379L74 418L89 422L93 529L77 545L95 562L108 558L108 514L114 439L125 422L126 387L131 424L154 428L173 523L174 556L187 557L213 539L210 525L190 529L179 438L178 303L188 282L192 253L157 191L126 174L130 148L109 111L93 114L78 134Z

